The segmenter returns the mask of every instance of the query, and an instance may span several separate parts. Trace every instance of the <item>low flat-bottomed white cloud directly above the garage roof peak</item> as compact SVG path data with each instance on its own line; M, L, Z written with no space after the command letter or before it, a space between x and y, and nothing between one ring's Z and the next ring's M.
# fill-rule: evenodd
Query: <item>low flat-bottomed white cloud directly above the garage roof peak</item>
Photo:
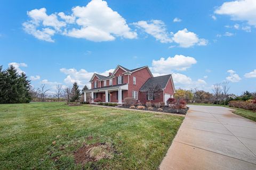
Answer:
M189 56L175 55L174 57L160 58L152 61L152 70L155 73L170 73L173 70L185 71L196 64L196 59Z

